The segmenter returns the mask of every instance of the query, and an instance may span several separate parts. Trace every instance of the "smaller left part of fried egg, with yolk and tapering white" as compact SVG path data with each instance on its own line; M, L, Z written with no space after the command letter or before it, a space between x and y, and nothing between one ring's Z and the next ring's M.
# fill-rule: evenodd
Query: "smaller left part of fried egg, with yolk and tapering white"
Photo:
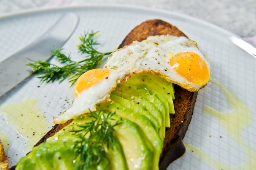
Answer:
M74 84L75 99L72 106L63 114L54 118L55 124L79 116L83 113L95 111L95 105L104 101L110 101L110 93L121 83L124 77L113 69L92 69L82 74Z

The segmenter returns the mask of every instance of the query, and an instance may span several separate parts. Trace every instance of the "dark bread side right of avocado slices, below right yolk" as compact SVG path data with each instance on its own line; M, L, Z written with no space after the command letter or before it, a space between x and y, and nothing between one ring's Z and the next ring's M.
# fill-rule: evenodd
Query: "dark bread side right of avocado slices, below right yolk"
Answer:
M173 100L175 114L170 116L171 127L166 128L164 145L159 160L159 170L165 170L171 162L181 157L186 148L182 142L189 123L198 92L189 92L180 86L175 86L175 99Z

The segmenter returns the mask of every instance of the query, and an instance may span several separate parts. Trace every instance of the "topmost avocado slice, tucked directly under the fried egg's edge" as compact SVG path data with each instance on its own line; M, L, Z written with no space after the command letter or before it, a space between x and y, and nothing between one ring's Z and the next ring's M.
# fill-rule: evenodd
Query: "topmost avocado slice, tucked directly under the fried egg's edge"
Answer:
M145 74L133 74L132 77L126 81L126 84L130 83L144 83L156 92L159 92L160 94L164 95L168 99L169 113L175 113L173 106L173 98L171 94L173 92L173 89L170 89L170 87L166 87L165 85L159 83L158 81L154 80L153 78L150 78L148 75Z

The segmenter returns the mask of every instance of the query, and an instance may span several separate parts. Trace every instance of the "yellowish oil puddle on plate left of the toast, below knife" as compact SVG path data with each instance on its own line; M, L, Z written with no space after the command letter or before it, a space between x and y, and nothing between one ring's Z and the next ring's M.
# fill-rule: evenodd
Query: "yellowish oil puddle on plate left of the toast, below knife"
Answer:
M1 105L0 112L5 121L26 140L24 152L29 152L33 146L51 127L38 106L36 98L25 98L15 103Z

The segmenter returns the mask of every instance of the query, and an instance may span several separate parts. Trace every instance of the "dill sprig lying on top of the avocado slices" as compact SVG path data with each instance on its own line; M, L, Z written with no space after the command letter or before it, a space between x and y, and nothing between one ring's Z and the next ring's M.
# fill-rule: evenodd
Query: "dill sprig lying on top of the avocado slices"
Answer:
M89 116L92 117L92 121L78 125L78 130L71 131L78 137L74 145L77 159L75 169L92 168L99 165L103 159L108 161L106 148L113 148L115 141L113 133L116 132L114 127L121 123L116 121L111 124L114 120L113 114L115 113L90 112Z

